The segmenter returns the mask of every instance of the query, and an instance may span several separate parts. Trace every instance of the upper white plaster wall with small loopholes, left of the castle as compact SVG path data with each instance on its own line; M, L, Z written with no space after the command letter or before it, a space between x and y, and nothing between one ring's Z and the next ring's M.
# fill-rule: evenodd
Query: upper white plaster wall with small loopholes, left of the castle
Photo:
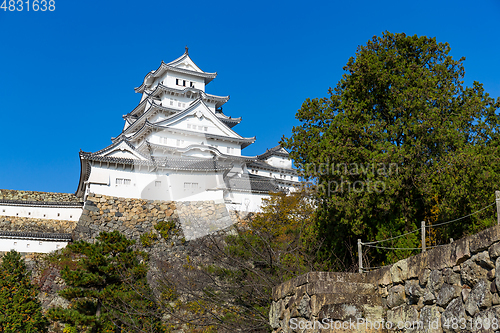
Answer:
M36 207L0 204L0 215L47 220L78 221L83 207Z

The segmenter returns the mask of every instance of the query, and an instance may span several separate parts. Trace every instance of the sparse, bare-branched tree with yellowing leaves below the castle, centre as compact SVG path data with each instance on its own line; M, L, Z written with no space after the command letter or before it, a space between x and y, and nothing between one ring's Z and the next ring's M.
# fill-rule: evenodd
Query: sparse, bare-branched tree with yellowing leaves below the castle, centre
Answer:
M262 213L228 232L188 244L169 258L161 303L169 323L193 332L266 332L272 288L297 275L327 270L318 261L314 206L307 193L274 193Z

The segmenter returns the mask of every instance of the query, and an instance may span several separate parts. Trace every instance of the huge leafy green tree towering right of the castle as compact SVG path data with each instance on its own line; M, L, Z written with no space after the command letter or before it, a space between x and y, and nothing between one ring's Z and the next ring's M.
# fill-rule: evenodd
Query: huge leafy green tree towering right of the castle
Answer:
M317 186L317 227L354 267L357 238L381 240L494 202L500 181L496 102L474 82L464 58L435 38L385 32L360 46L329 96L307 99L300 126L282 144ZM435 242L477 231L494 210L435 229ZM418 234L381 244L420 247ZM354 250L354 251L353 251ZM371 251L375 264L410 252Z

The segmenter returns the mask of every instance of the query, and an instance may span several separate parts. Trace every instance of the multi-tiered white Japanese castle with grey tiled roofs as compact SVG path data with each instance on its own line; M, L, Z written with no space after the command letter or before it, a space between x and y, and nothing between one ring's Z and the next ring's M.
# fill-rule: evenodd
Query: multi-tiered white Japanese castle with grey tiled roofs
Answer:
M233 130L241 117L222 112L229 96L205 92L217 73L202 71L185 53L161 62L135 88L141 101L124 115L123 131L95 153L80 151L76 195L89 193L165 201L226 203L255 212L270 191L298 184L281 146L244 156L255 142Z

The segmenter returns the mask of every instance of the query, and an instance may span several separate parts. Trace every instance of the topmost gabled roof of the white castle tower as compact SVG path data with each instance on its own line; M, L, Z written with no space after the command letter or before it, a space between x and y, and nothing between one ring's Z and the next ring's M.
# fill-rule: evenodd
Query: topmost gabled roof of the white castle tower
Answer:
M200 67L198 67L191 59L186 49L186 52L184 52L182 56L175 59L174 61L169 62L168 64L164 63L162 60L160 66L156 70L146 74L143 83L139 87L135 88L135 92L143 93L145 88L153 84L154 79L162 76L166 71L201 77L204 79L205 85L210 83L210 81L215 79L215 77L217 76L217 73L208 73L202 71Z

